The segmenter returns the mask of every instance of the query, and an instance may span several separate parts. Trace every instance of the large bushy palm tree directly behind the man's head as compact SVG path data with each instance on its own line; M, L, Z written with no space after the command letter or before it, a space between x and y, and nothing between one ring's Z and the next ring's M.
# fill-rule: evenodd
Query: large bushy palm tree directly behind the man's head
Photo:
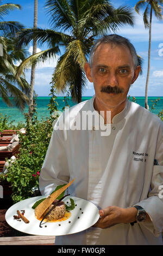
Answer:
M49 48L22 62L17 76L33 63L45 61L64 50L52 82L58 92L71 87L71 96L79 103L86 85L84 63L95 39L115 32L122 25L133 26L133 14L128 7L115 9L108 0L48 0L45 7L52 29L24 30L18 36L18 47L28 45L35 38L39 44L47 43Z

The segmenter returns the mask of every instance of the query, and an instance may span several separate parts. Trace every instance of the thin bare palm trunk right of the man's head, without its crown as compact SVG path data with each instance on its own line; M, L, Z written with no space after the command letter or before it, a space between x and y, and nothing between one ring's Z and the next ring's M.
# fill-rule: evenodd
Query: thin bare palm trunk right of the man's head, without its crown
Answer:
M145 108L148 109L148 110L149 110L149 106L148 106L148 82L149 82L150 61L151 61L151 29L152 29L152 6L151 6L151 12L150 12L150 21L149 21L148 71L147 71L146 95L145 95Z

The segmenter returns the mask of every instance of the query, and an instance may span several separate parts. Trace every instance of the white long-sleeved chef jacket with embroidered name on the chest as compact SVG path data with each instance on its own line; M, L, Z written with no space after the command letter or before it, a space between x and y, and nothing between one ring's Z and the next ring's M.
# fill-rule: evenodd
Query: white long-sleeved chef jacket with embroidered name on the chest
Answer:
M74 116L82 111L95 111L94 99L95 96L69 110ZM58 129L61 116L41 169L41 194L49 195L59 184L75 178L68 188L72 196L89 200L99 209L140 205L152 222L134 226L120 223L106 229L91 227L76 234L56 236L55 245L162 245L160 118L127 99L126 107L113 117L112 124L107 124L111 125L110 135L101 136L101 130L93 126L90 130ZM159 165L154 165L154 159Z

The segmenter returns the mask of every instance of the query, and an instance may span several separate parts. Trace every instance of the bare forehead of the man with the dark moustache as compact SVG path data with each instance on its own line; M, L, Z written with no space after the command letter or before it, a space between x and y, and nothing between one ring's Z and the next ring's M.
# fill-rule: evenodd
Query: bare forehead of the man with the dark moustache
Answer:
M100 44L93 56L93 66L105 64L106 66L122 66L129 64L133 66L133 57L127 46L110 43Z

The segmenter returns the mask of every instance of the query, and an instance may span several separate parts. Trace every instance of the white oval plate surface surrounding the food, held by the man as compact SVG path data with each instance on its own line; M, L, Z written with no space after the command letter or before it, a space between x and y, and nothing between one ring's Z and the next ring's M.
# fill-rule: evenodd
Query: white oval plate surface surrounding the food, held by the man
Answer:
M98 208L96 205L81 198L67 196L63 201L70 202L70 198L77 205L72 211L70 218L62 222L42 222L42 228L39 227L40 221L36 219L32 206L37 200L45 196L28 198L12 205L5 213L7 223L14 229L30 235L59 236L78 233L94 225L99 218ZM66 203L67 204L67 203ZM67 205L70 205L68 203ZM82 210L80 210L82 209ZM21 222L14 219L17 210L25 210L24 217L29 223ZM83 212L83 213L82 213ZM78 218L79 217L79 218ZM69 223L71 222L71 223ZM60 226L59 226L60 224ZM47 227L45 227L47 226Z

